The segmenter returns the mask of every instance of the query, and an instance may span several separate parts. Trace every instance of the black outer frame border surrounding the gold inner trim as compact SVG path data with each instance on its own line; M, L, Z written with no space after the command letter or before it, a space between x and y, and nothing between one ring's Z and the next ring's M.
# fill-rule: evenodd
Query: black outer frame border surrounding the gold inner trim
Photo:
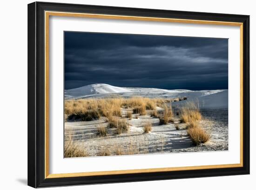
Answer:
M192 177L249 174L249 15L197 13L128 7L34 2L28 4L28 180L29 186L50 187L122 183ZM243 23L243 167L166 171L89 177L45 178L45 36L44 12L97 13Z

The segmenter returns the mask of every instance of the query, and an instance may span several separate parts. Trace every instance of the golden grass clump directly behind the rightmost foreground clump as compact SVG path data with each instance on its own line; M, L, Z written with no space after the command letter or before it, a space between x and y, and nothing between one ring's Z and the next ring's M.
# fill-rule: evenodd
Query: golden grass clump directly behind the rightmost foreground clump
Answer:
M180 113L181 123L189 123L193 120L201 120L202 115L200 113L200 109L198 105L195 105L194 102L187 103L184 107L181 109Z

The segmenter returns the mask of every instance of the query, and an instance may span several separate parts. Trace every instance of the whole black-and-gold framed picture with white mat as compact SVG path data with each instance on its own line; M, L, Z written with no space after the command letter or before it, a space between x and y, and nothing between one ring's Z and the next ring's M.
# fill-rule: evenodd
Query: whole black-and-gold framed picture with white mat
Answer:
M249 16L28 4L28 185L249 174Z

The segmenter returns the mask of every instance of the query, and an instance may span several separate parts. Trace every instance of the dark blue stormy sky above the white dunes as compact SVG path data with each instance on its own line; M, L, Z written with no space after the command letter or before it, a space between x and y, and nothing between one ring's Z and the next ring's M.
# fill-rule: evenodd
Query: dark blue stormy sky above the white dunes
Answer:
M228 39L65 32L65 89L228 89Z

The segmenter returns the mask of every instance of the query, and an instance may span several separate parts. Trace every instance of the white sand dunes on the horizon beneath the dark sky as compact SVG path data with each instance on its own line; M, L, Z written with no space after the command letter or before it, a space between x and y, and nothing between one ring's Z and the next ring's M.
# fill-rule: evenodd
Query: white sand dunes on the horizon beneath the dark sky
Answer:
M228 90L166 90L158 88L128 88L107 84L93 84L65 90L64 94L65 99L107 98L113 96L125 98L134 96L148 98L187 97L187 100L174 102L173 105L182 105L188 101L197 101L202 109L228 108Z

